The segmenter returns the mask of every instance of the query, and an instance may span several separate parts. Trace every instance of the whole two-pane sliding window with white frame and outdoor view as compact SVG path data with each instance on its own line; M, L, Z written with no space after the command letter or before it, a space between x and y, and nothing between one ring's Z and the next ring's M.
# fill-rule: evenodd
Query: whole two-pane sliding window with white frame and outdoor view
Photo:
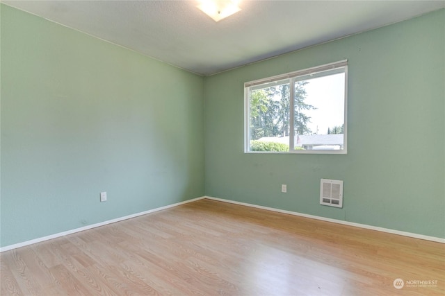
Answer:
M246 82L245 153L346 154L347 82L346 60Z

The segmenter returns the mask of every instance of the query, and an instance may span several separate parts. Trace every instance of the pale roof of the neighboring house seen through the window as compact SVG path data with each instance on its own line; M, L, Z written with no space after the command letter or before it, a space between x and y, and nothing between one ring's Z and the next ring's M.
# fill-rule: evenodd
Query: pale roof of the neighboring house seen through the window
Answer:
M275 142L289 144L289 137L262 137L262 142ZM341 145L343 134L298 134L295 139L296 146Z

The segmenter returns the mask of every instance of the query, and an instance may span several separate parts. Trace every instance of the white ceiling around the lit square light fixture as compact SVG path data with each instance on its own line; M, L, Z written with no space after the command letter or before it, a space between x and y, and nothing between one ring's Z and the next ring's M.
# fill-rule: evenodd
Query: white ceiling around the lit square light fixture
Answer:
M10 1L35 15L211 75L432 10L445 1L241 1L218 23L198 1Z

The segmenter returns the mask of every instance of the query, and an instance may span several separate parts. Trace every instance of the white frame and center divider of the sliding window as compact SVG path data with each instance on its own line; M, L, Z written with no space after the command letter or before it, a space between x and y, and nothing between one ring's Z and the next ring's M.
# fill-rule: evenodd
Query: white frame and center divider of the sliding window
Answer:
M294 130L289 130L289 152L275 152L275 151L250 151L250 87L255 85L262 85L267 82L277 82L279 80L290 79L290 85L295 85L295 82L304 80L306 76L314 76L316 73L321 73L323 71L328 71L332 69L344 68L345 73L345 85L344 85L344 125L343 125L343 149L341 150L296 150L294 147L295 143L295 132ZM289 87L289 98L294 97L295 88ZM293 110L294 110L294 100L290 99L289 110L289 127L293 127ZM308 69L303 69L299 71L293 71L290 73L284 73L277 76L271 76L268 78L263 78L259 80L254 80L244 83L244 153L274 153L274 154L347 154L348 153L348 60L341 60L339 62L332 62L330 64L323 64L321 66L312 67ZM291 144L292 143L292 144Z

